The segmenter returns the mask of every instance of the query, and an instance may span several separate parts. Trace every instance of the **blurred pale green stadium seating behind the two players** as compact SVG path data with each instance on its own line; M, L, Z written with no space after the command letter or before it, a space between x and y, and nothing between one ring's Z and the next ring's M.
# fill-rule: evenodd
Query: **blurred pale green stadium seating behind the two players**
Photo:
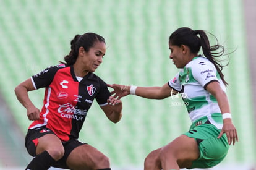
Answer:
M63 61L75 34L95 32L108 50L96 70L107 83L163 85L177 72L169 60L168 37L179 27L216 35L230 54L224 67L239 142L212 169L254 169L255 0L1 0L0 169L25 169L24 138L31 123L14 88L40 70ZM38 108L44 90L30 92ZM113 124L93 104L80 140L111 159L112 169L143 169L143 160L190 126L181 98L122 99L121 122ZM96 103L96 102L95 102Z

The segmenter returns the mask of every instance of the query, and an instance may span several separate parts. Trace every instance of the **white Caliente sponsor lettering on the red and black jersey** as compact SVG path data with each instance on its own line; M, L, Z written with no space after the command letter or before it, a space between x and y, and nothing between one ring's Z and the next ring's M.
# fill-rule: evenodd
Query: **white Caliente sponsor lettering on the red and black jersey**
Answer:
M60 113L61 117L65 117L67 119L75 119L76 121L82 121L85 119L85 116L87 115L87 110L81 110L78 108L75 108L70 103L59 105L58 113Z

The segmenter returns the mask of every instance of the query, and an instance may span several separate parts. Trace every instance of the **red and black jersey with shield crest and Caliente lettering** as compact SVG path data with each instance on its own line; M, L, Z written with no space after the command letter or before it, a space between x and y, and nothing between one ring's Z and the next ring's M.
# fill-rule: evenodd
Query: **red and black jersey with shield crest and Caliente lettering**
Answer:
M111 93L106 83L89 72L79 82L73 66L51 66L31 77L35 89L45 87L40 119L33 121L29 129L46 126L62 140L79 138L88 109L96 99L105 106Z

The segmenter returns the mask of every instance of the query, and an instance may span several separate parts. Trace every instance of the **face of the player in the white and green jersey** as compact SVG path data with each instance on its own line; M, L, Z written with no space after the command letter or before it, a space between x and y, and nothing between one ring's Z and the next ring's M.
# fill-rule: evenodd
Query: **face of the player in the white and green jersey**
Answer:
M169 49L171 50L169 58L172 59L173 64L179 69L184 68L187 64L187 59L182 46L169 45Z

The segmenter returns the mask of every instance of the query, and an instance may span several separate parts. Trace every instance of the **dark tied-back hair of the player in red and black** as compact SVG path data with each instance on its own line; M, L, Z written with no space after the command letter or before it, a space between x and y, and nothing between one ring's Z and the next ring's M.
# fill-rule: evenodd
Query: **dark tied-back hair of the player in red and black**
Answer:
M75 64L77 60L77 56L79 54L79 48L82 46L85 51L89 51L89 49L95 45L96 41L100 41L105 43L105 39L96 34L96 33L85 33L83 35L75 35L74 39L70 41L71 50L69 55L64 57L65 62L61 62L62 64L66 64L67 66L71 66Z

